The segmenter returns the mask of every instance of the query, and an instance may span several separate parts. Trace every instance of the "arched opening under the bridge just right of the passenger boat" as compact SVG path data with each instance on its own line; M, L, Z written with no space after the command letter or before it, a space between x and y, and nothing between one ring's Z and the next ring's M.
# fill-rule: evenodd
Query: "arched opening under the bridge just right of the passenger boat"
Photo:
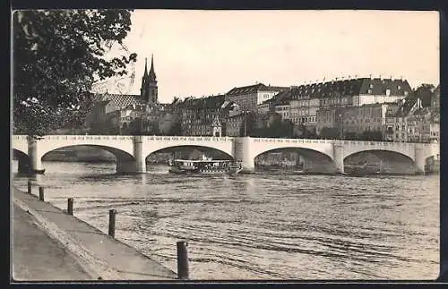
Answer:
M254 158L255 171L308 174L332 174L336 167L332 157L305 148L281 148L264 151Z

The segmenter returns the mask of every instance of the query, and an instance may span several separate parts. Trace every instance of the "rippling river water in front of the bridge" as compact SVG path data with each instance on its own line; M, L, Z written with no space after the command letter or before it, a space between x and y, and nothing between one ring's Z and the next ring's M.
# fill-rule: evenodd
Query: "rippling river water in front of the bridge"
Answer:
M194 279L435 279L439 175L350 178L179 176L167 166L44 162L46 200L177 271L188 242ZM13 162L13 172L17 163ZM27 178L13 183L26 190Z

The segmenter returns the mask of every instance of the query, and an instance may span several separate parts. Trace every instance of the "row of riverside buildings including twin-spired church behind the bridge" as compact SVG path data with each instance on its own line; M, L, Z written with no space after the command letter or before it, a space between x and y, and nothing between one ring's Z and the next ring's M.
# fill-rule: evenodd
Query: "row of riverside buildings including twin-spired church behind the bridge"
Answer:
M108 123L124 133L140 122L142 133L242 136L247 115L264 122L268 118L263 115L278 115L321 137L333 130L340 138L378 132L383 140L438 141L439 87L431 94L430 106L423 106L408 81L370 77L291 87L257 83L222 95L161 104L151 58L150 72L145 64L141 94L96 95L86 123Z

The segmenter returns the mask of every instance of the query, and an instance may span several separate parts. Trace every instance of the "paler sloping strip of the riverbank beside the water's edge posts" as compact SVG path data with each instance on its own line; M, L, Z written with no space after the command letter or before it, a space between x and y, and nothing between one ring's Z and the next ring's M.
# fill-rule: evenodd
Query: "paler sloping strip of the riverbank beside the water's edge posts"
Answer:
M33 188L34 191L36 189L36 187ZM64 244L65 249L73 255L90 279L101 277L103 280L163 280L177 277L175 272L144 256L134 248L116 241L76 217L66 215L59 208L47 202L39 201L35 195L14 189L13 197L14 205L24 211L28 210L43 231ZM14 239L21 237L21 234L14 235ZM33 245L32 242L28 242L28 245L24 244L24 246L32 247ZM13 245L13 251L18 250L21 249L15 248ZM24 249L22 248L22 250ZM22 257L26 256L22 254ZM28 259L33 258L30 256ZM52 259L53 257L48 258ZM53 259L55 260L48 264L56 264L56 259L61 262L57 255ZM15 271L24 267L21 266L24 265L23 260L22 264L20 261L15 264L16 259L13 259ZM58 274L58 272L55 273L55 275ZM62 276L61 273L61 276L53 276L50 279L48 279L50 276L45 276L40 280L58 280ZM77 277L73 275L71 279Z

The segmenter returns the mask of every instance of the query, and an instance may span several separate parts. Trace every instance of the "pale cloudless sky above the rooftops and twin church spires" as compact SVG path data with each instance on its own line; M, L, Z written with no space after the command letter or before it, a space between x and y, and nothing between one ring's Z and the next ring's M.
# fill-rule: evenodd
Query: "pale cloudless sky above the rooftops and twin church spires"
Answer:
M439 83L437 12L134 10L125 47L138 55L129 67L134 83L108 81L103 89L140 94L145 57L150 65L153 55L162 103L257 82L372 75L413 88Z

